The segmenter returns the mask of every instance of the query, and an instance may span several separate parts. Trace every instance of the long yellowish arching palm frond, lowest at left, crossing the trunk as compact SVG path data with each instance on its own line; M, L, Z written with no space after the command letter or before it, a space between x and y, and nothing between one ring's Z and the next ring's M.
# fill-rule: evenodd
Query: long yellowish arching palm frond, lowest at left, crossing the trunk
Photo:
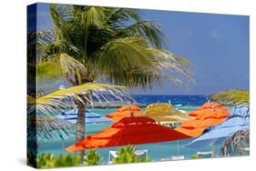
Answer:
M60 109L70 108L74 98L84 103L80 96L87 99L88 94L95 97L97 101L110 101L113 99L123 101L125 98L131 98L123 91L124 89L126 89L125 86L99 83L87 83L60 89L54 93L37 98L36 103L28 103L28 113L33 114L33 112L37 111L48 116L56 115ZM87 99L87 101L90 100Z

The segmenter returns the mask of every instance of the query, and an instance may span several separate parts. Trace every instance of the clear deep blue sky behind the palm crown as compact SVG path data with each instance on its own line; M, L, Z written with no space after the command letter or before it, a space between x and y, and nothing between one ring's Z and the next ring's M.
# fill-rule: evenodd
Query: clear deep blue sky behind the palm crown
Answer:
M189 59L196 81L189 89L171 83L132 94L210 95L231 88L249 90L249 17L142 10L143 17L159 22L166 48ZM49 6L38 5L37 30L52 28Z

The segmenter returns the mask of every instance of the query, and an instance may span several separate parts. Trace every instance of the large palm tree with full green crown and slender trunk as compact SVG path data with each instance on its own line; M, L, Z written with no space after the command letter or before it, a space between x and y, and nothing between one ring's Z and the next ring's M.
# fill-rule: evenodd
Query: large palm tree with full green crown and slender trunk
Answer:
M162 81L185 85L169 72L192 80L189 61L162 49L164 35L156 22L135 9L50 5L53 30L37 33L38 61L49 75L65 77L70 86L108 82L151 87ZM54 67L53 67L54 66ZM60 75L61 74L61 75ZM90 94L77 95L77 141L85 137Z

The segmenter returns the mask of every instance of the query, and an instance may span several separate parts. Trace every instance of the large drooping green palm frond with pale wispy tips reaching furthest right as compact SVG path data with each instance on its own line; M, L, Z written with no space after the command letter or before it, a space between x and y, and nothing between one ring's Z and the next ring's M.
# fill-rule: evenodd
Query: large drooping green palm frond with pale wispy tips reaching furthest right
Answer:
M92 59L99 71L114 84L146 87L169 80L176 85L185 85L178 76L164 74L164 69L181 73L194 81L188 70L188 60L165 50L149 48L143 38L120 38L108 42Z

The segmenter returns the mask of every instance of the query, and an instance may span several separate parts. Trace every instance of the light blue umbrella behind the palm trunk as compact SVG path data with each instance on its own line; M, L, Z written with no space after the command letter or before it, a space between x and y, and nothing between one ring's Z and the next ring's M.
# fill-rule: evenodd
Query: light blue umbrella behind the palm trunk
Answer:
M63 110L57 115L58 118L65 119L73 124L77 123L77 109ZM98 123L109 123L112 122L110 119L100 116L90 110L86 110L86 124L98 124Z

